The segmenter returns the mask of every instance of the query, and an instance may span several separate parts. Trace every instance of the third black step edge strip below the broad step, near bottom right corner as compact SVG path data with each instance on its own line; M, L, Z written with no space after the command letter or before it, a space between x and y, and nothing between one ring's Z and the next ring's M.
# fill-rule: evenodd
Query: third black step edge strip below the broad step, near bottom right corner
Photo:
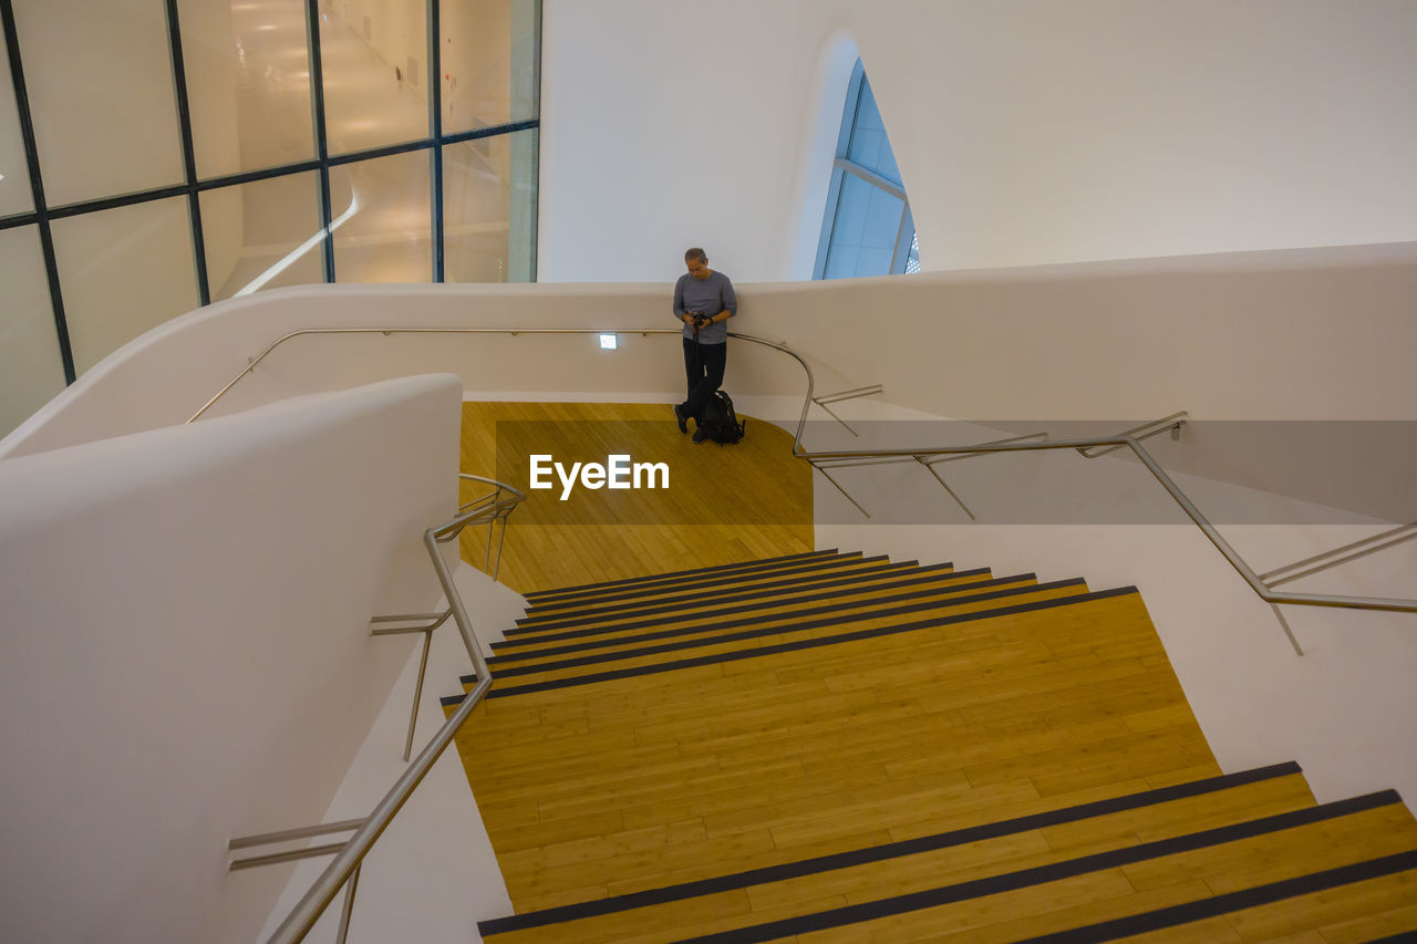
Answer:
M1369 879L1380 879L1384 875L1407 872L1408 869L1417 869L1417 849L1382 856L1380 859L1355 862L1353 865L1339 866L1336 869L1325 869L1323 872L1311 872L1309 875L1301 875L1295 879L1284 879L1282 882L1271 882L1270 884L1257 884L1253 889L1227 892L1224 894L1217 894L1213 899L1200 899L1199 901L1172 904L1170 907L1156 909L1155 911L1129 914L1127 917L1112 918L1111 921L1100 921L1097 924L1088 924L1087 927L1071 928L1067 931L1053 931L1051 934L1044 934L1041 937L1030 937L1027 941L1020 941L1019 944L1043 944L1043 941L1049 941L1050 944L1115 941L1119 937L1145 934L1146 931L1161 931L1168 927L1176 927L1178 924L1190 924L1192 921L1202 921L1204 918L1230 914L1231 911L1257 909L1264 904L1284 901L1285 899L1297 899L1301 894L1328 892L1329 889L1338 889L1356 882L1367 882ZM1406 931L1382 940L1417 941L1417 931ZM1370 941L1369 944L1377 943Z

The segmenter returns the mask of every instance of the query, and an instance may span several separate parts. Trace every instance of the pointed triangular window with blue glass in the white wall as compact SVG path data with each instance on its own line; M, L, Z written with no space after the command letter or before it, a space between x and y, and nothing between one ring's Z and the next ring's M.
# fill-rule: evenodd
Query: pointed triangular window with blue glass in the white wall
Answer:
M860 60L842 112L813 278L920 271L915 221Z

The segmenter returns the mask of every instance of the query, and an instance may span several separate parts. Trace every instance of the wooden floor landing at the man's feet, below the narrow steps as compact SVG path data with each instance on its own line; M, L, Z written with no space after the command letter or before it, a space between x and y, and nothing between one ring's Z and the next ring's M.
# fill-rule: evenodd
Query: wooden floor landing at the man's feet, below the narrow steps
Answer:
M462 471L530 496L507 526L499 574L519 592L813 547L812 471L772 424L748 418L743 442L718 446L682 435L667 404L466 403L462 415ZM530 452L565 466L612 454L665 462L669 488L577 488L561 502L560 483L529 489ZM480 493L465 486L462 500ZM462 558L480 567L486 537L486 529L463 532Z

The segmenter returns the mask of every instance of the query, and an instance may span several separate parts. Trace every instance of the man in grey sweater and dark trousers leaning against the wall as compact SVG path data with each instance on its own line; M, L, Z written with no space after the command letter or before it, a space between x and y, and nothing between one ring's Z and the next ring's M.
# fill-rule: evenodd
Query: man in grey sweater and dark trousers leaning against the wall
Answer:
M693 417L694 442L703 442L707 432L699 427L699 418L708 397L723 384L728 361L728 326L724 322L738 313L738 299L728 276L708 268L703 249L684 252L684 265L689 272L674 283L674 316L684 323L689 398L674 404L674 420L680 432L689 432L689 417Z

